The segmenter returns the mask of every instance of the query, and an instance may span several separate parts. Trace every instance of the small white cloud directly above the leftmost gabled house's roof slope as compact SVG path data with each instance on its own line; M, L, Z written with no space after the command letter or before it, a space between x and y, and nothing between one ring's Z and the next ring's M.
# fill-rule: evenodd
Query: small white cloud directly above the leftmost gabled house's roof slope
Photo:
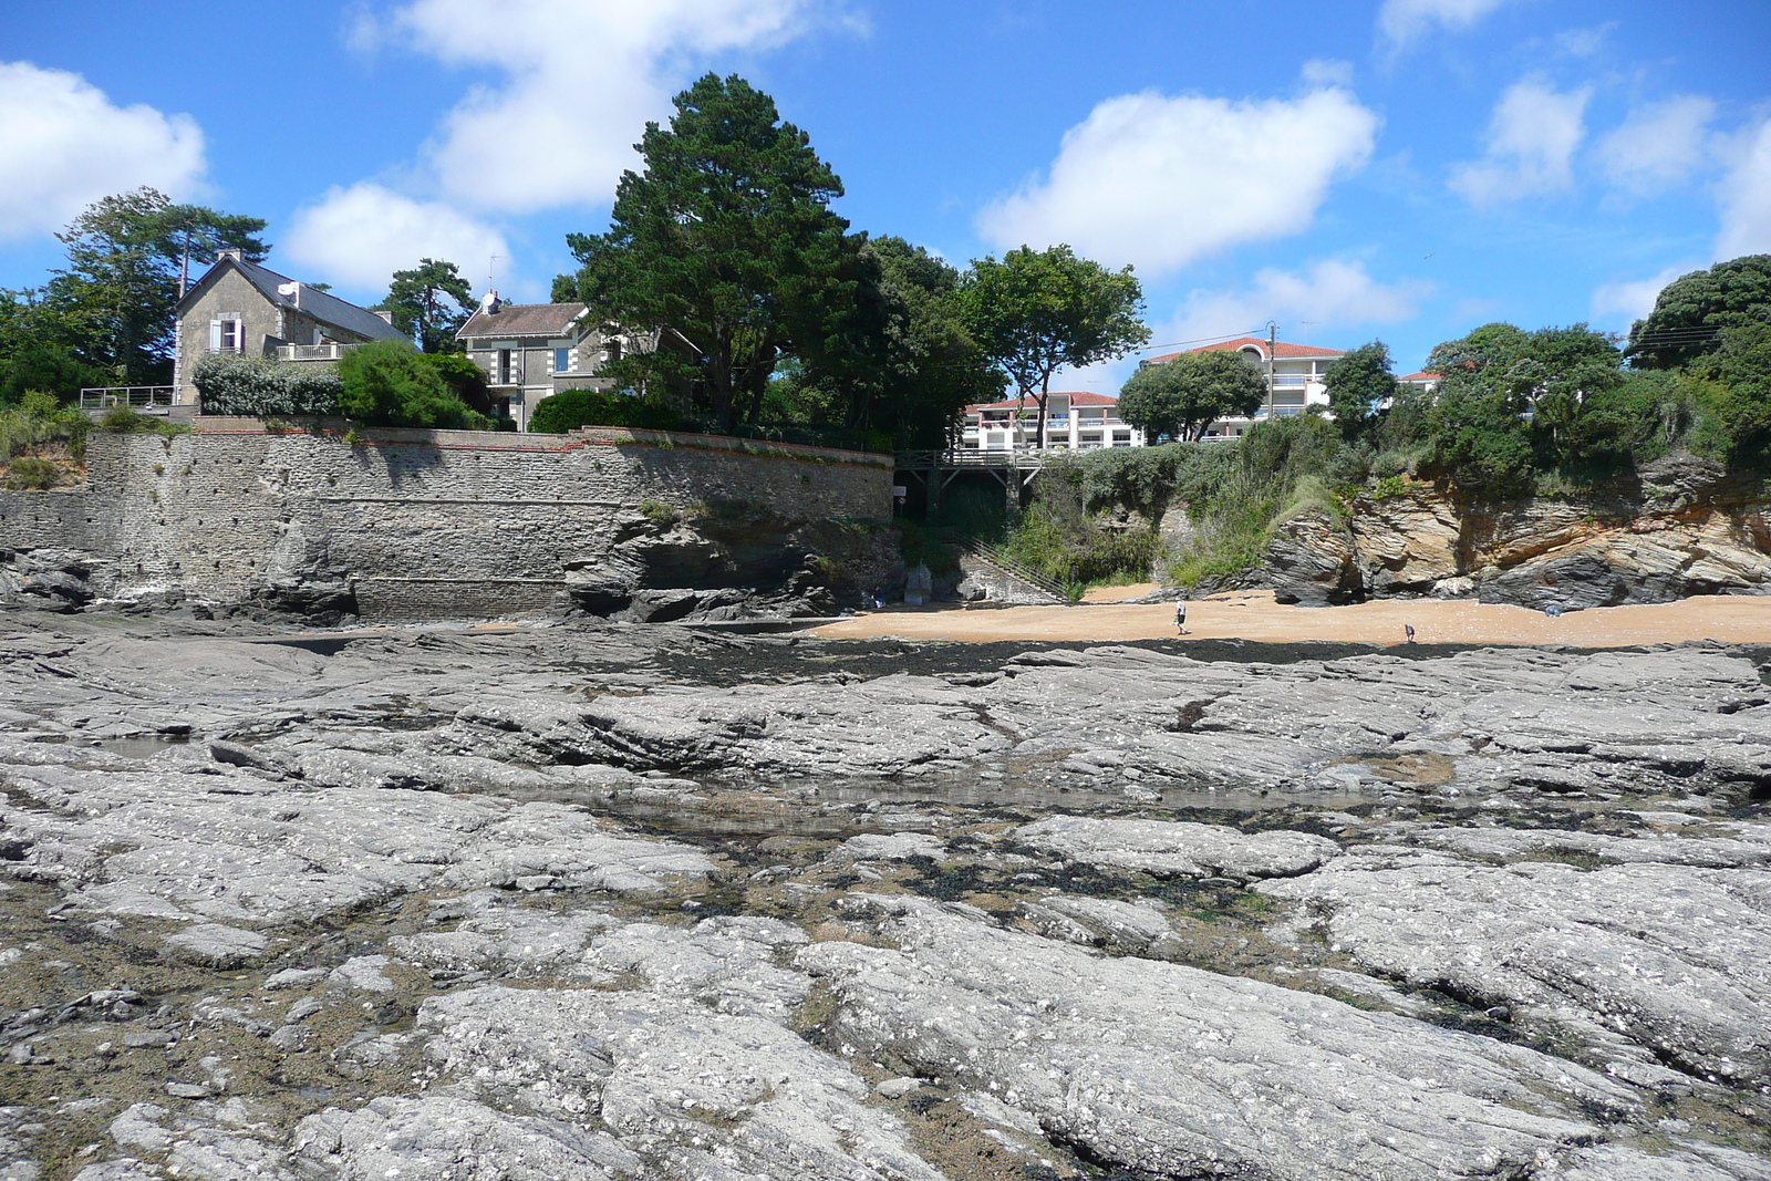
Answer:
M471 276L480 274L491 255L510 259L510 246L496 228L441 202L413 200L368 181L335 186L301 209L283 250L312 278L374 296L388 289L395 271L420 259L446 259Z

